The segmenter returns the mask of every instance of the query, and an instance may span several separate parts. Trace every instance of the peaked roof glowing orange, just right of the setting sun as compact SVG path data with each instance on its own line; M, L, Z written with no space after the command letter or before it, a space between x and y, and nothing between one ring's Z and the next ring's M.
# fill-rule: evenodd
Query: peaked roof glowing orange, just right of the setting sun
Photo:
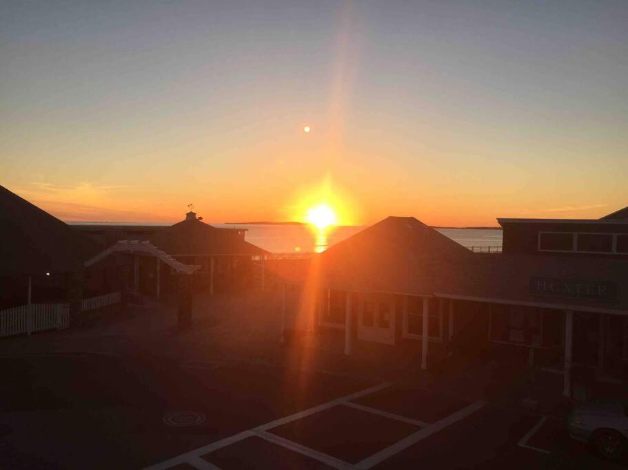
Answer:
M431 295L435 263L472 256L414 217L387 217L323 252L319 279L328 288Z

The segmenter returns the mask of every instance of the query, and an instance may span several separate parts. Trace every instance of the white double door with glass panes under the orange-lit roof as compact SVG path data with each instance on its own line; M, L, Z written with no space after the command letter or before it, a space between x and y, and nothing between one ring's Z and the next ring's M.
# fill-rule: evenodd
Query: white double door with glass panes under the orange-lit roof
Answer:
M363 296L358 309L358 339L375 343L395 343L394 297Z

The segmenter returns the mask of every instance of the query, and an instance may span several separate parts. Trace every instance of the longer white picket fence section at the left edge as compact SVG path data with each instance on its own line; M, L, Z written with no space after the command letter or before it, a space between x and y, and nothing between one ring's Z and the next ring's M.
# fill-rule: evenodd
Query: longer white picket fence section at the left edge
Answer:
M68 303L31 303L0 310L0 337L43 330L63 330L70 326Z

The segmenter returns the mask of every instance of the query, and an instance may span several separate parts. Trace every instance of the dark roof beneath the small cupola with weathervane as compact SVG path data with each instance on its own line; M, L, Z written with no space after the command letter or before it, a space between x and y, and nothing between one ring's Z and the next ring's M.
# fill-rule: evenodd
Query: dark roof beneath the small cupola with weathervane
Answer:
M262 255L266 250L245 242L238 231L216 228L196 218L154 233L151 241L168 255Z

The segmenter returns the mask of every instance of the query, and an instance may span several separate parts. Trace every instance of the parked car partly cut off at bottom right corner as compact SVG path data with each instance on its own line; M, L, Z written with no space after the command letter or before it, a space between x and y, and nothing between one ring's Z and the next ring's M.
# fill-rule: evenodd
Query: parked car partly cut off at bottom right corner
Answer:
M628 403L597 401L576 405L567 428L571 438L589 442L602 457L617 460L627 449Z

